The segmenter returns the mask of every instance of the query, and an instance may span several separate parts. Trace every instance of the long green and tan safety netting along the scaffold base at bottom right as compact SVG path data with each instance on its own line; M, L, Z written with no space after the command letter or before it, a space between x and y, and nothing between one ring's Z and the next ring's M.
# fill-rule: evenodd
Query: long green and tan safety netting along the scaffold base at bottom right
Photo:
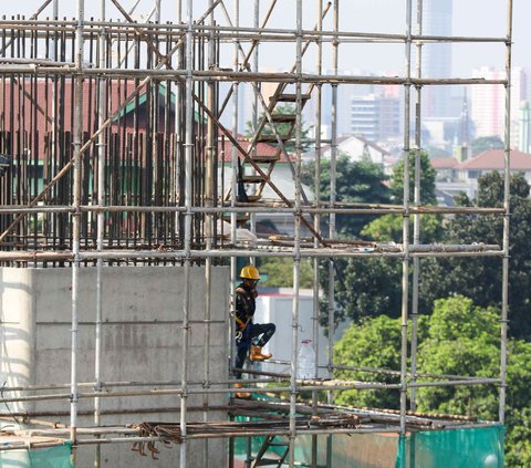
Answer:
M354 433L331 438L320 435L317 465L329 468L503 468L503 439L501 425L426 430L402 439L389 433ZM237 438L236 456L252 457L262 441L262 437ZM296 465L311 466L311 454L312 437L296 437Z

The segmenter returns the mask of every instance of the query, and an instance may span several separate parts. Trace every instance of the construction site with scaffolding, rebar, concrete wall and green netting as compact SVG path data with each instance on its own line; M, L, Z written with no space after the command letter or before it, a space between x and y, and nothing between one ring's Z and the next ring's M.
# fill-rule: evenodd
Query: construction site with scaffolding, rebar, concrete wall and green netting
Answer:
M512 1L500 12L500 37L423 35L423 0L404 1L399 32L367 32L340 0L71 3L74 18L44 0L0 20L0 465L502 467ZM423 52L441 43L502 49L507 76L423 76ZM400 74L340 73L358 45L388 48L402 58ZM365 84L396 86L403 100L403 205L337 201L335 123L347 105L337 93ZM501 208L423 205L423 93L455 85L504 93ZM243 92L253 96L246 136ZM330 196L320 178L325 146ZM315 165L310 190L303 147ZM337 236L339 215L388 214L402 217L402 239ZM420 215L459 214L502 218L499 245L423 243ZM272 216L288 219L290 232L257 229ZM242 264L268 257L292 263L290 358L272 350L267 368L250 363L236 379L233 290ZM340 379L334 261L375 257L402 262L400 366ZM497 378L417 372L419 262L442 257L502 266ZM313 269L305 316L303 261ZM313 378L298 378L302 339L320 356ZM416 412L423 386L483 385L499 392L498 420ZM394 392L399 410L334 402L343 391L378 388ZM241 391L252 397L236 397Z

